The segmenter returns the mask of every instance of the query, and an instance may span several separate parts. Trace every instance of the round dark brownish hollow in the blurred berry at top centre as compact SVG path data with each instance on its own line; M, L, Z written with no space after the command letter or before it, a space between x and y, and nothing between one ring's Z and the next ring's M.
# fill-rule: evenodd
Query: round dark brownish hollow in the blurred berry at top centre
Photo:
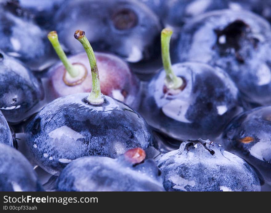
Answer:
M124 8L112 15L112 21L116 29L128 30L136 26L138 20L133 10Z

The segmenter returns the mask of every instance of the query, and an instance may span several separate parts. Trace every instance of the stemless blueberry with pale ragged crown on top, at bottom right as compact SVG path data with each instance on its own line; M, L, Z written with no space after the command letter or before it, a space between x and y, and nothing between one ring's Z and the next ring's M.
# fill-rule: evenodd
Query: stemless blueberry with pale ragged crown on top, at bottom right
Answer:
M260 191L255 171L243 159L209 140L184 141L157 160L166 191Z

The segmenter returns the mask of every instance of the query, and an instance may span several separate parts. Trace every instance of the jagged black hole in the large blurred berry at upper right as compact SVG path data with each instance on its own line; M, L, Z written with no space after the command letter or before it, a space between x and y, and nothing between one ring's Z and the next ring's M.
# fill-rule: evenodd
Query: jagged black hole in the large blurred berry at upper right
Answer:
M214 30L217 35L216 44L222 48L223 51L228 48L234 48L236 59L239 62L244 63L245 59L242 58L238 51L241 48L240 39L245 37L249 30L249 25L247 25L244 21L236 20L226 26L223 30ZM253 39L251 39L251 42L253 43L253 46L257 45L257 42L254 42Z

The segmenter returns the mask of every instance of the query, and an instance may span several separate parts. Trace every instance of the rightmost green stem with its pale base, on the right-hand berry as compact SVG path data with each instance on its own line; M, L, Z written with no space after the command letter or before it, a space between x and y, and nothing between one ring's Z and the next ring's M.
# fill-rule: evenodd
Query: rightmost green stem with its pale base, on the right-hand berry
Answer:
M183 84L182 78L176 76L172 70L169 44L172 36L172 30L165 28L161 32L161 50L164 70L166 71L165 84L168 89L178 89Z

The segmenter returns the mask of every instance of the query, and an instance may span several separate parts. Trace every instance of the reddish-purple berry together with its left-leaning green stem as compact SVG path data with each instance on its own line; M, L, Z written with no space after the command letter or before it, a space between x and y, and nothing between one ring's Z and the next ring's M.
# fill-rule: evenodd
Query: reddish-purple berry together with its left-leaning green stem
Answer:
M59 54L62 63L57 63L44 78L45 90L48 90L50 100L68 94L91 91L91 69L85 52L66 57L58 42L55 31L48 38ZM131 72L128 64L121 58L108 53L95 53L99 68L101 92L116 98L136 109L140 103L139 80ZM72 76L73 72L76 72ZM46 80L45 80L46 79Z

